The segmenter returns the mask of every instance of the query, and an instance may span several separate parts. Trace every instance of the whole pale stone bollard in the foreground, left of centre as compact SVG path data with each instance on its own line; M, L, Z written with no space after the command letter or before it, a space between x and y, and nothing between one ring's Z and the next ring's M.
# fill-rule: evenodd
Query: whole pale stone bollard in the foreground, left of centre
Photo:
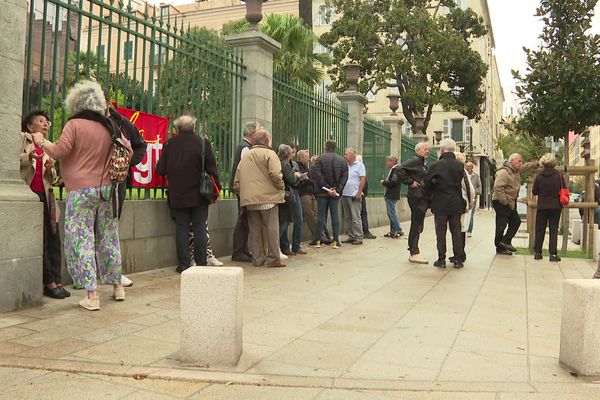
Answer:
M181 274L180 362L235 366L242 355L244 270L191 267Z

